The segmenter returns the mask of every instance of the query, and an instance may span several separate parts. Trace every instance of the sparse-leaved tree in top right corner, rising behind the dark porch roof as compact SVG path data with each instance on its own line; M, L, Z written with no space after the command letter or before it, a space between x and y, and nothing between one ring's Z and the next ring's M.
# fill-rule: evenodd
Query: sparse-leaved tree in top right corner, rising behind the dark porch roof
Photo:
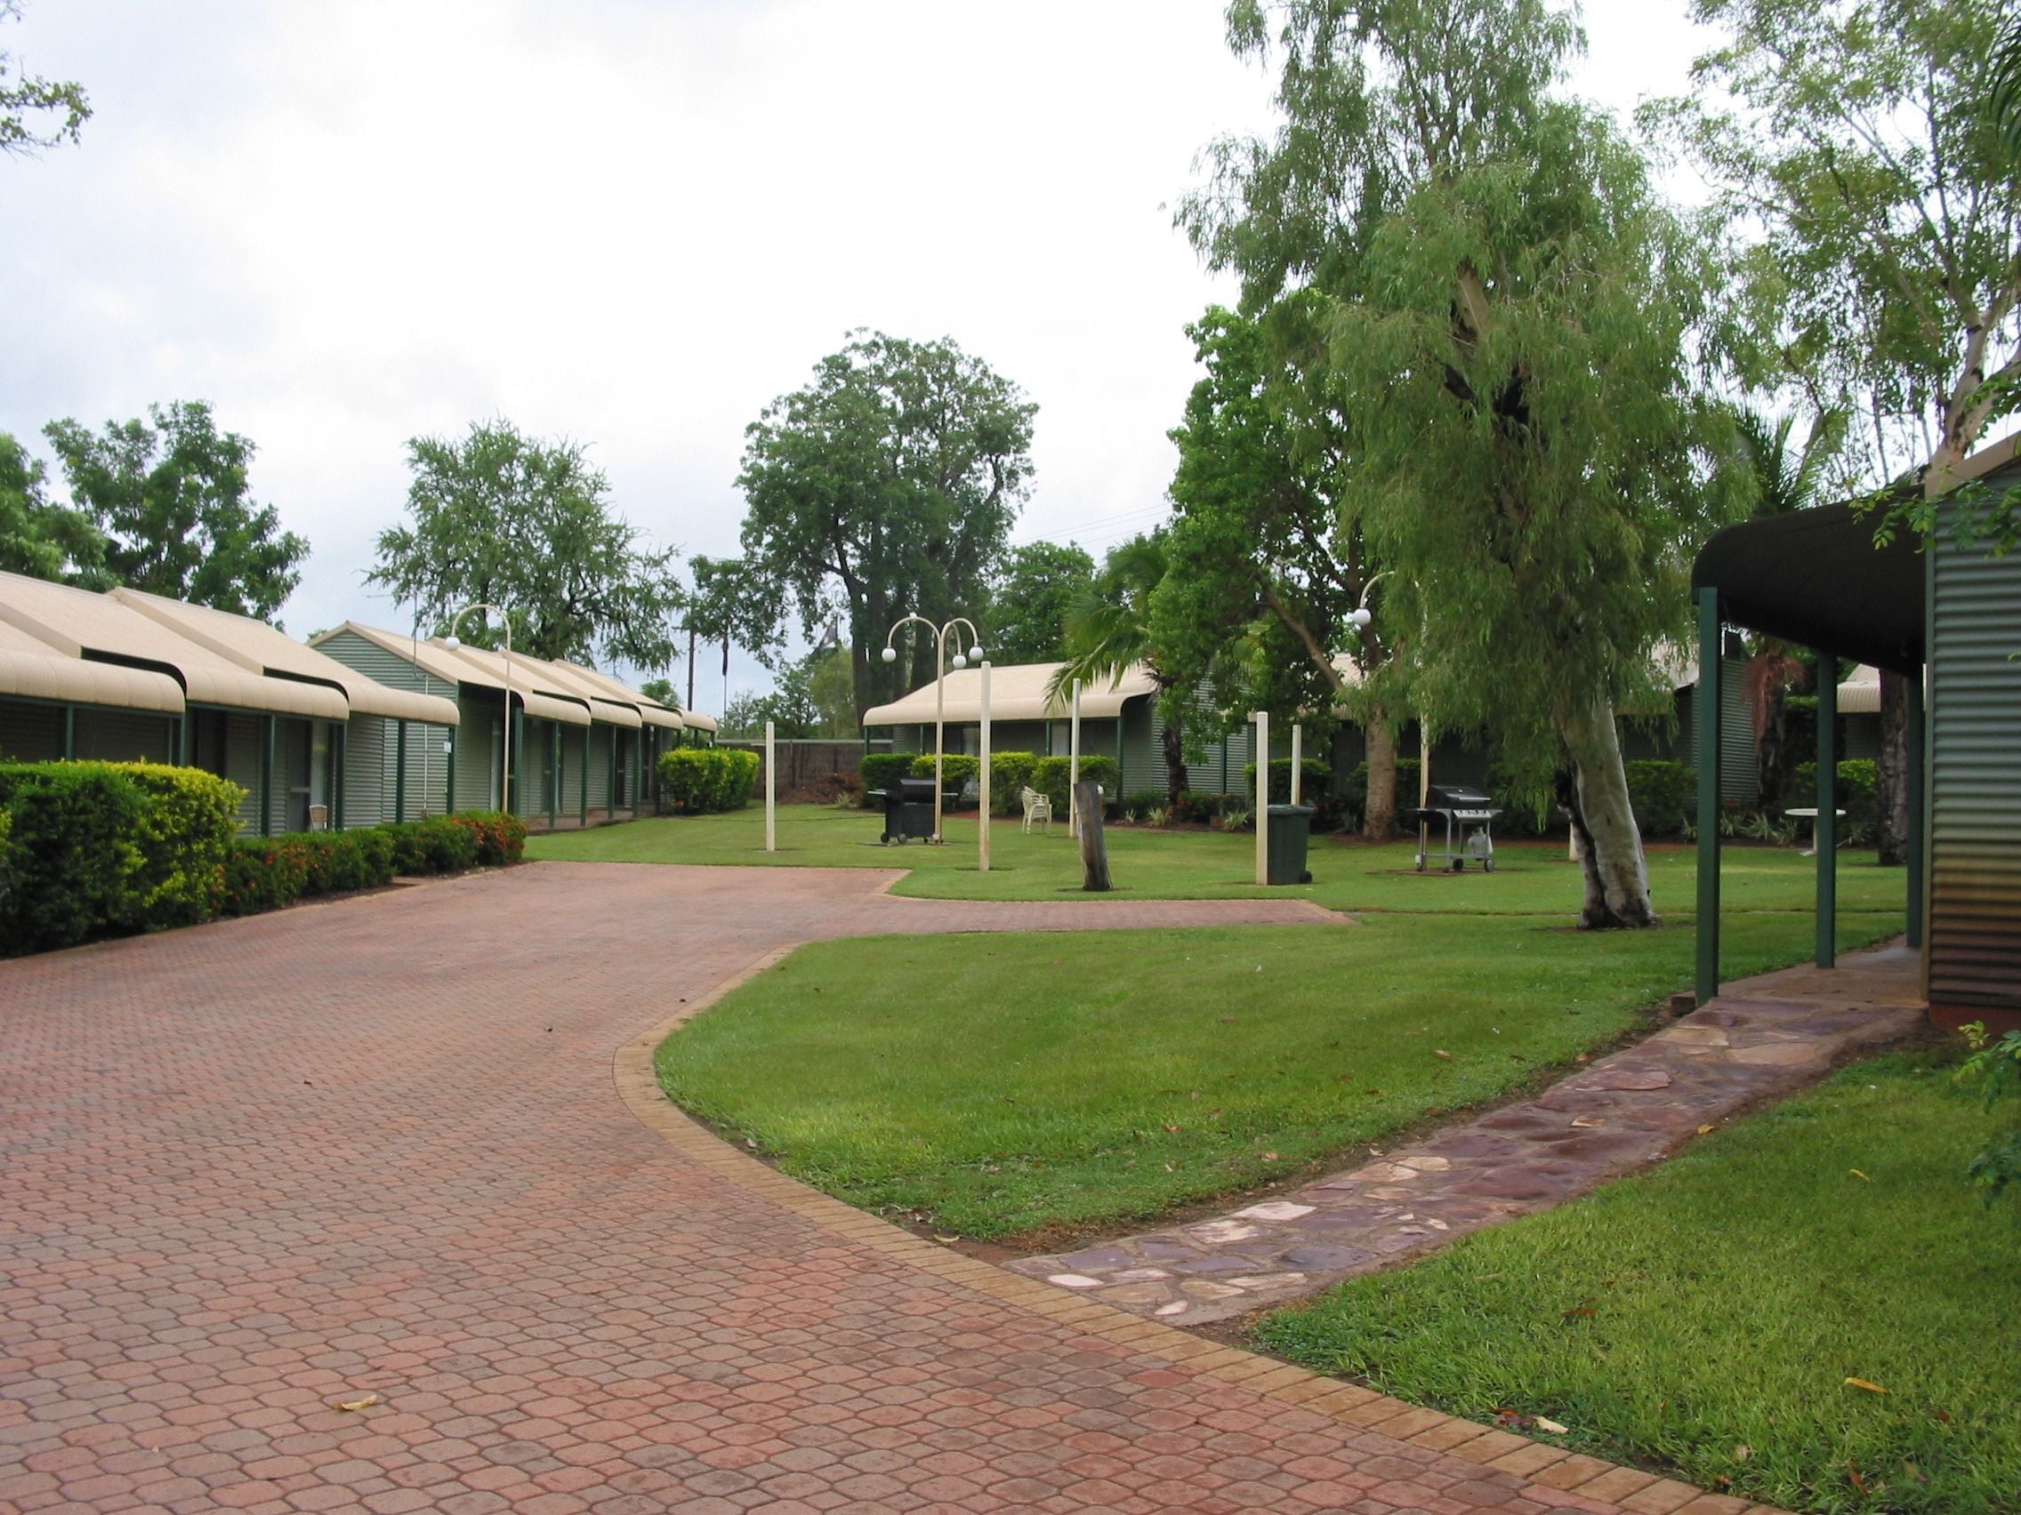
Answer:
M1960 461L2021 392L2021 158L1995 119L2001 63L1989 81L2021 6L1694 0L1694 16L1724 32L1694 69L1712 89L1651 115L1720 210L1762 228L1742 250L1772 356L1756 384L1861 418L1849 489ZM1920 491L1904 495L1892 519L1930 529ZM2017 525L2007 503L1989 529L2011 545ZM1884 673L1884 863L1908 844L1906 715L1902 679Z

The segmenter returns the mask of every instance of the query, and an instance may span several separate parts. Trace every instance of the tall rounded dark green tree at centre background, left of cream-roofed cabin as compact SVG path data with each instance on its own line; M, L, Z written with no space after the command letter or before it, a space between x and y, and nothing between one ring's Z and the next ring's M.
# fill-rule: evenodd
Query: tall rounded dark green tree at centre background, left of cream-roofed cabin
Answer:
M1029 489L1035 410L948 339L853 333L746 430L746 634L776 642L798 612L812 636L841 614L857 715L911 689L918 644L891 665L877 652L907 610L938 624L986 602Z

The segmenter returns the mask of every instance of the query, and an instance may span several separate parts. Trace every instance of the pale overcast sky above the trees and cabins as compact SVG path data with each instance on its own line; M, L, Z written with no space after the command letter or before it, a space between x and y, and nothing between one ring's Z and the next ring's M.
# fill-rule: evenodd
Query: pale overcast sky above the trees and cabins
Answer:
M87 85L0 160L0 430L208 400L313 553L283 618L404 626L360 572L404 442L572 436L635 525L736 549L744 426L853 327L950 335L1039 404L1015 537L1162 515L1194 156L1269 127L1223 0L26 0ZM1595 0L1582 93L1675 93L1683 0ZM697 705L719 709L703 656ZM768 683L738 659L730 691Z

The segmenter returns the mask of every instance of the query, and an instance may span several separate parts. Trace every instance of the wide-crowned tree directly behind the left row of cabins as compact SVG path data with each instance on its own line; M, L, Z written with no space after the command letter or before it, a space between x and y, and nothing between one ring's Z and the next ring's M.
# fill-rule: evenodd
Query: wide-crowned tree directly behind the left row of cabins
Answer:
M610 509L610 483L580 442L491 420L461 438L416 436L406 452L408 519L380 531L366 584L435 626L465 604L505 606L513 650L540 659L667 667L681 604L673 549L647 545ZM473 616L459 634L493 632Z

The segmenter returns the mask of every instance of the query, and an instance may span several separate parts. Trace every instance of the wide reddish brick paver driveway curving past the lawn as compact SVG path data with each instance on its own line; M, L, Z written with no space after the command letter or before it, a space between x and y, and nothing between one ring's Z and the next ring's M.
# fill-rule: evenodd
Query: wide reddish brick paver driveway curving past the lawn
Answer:
M784 943L1071 923L885 877L548 863L0 964L0 1509L1613 1509L647 1129L612 1052Z

